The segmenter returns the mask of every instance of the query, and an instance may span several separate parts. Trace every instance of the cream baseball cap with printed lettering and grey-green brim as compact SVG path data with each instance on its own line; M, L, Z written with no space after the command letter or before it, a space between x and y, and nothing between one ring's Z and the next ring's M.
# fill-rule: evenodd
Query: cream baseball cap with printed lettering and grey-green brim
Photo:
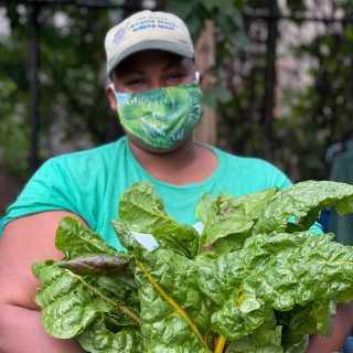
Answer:
M145 50L162 50L192 58L194 49L185 23L175 14L145 10L137 12L106 35L107 71L129 55Z

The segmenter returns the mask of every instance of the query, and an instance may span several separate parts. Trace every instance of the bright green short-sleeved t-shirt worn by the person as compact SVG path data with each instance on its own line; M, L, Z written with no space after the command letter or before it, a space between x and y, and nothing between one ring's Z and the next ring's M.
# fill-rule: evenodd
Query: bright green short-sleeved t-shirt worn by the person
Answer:
M120 195L132 183L154 185L167 213L178 222L194 224L196 203L204 193L228 192L240 196L271 186L291 184L272 164L256 158L237 157L211 146L217 169L201 183L171 185L149 175L131 153L127 138L87 151L63 154L46 161L8 208L3 225L44 211L66 210L82 216L107 243L121 249L110 220L118 217Z

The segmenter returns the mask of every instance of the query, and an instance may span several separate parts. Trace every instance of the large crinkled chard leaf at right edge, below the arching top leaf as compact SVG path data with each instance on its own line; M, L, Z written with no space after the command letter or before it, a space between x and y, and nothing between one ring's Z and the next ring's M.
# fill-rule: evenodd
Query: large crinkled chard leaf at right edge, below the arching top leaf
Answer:
M272 254L256 272L247 276L244 291L271 303L276 310L290 310L297 303L306 306L314 298L341 302L351 300L352 248L333 242L330 236L313 236L309 232L287 235L287 242L292 237L301 238L302 244ZM261 242L265 244L267 238L257 236L257 246L261 246Z

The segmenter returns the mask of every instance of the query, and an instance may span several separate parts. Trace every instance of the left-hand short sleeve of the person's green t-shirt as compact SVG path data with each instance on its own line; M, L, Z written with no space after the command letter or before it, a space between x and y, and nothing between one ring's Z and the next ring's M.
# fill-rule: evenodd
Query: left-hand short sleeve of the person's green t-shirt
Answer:
M65 175L54 158L34 173L9 206L2 227L15 218L45 211L65 210L81 215L77 204L77 194L69 176Z

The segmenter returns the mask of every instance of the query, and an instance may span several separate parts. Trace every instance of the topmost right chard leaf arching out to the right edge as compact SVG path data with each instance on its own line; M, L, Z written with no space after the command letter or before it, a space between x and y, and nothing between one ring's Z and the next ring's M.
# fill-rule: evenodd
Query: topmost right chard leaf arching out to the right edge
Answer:
M322 208L353 212L353 185L332 181L304 181L278 191L260 214L253 233L307 231ZM290 220L295 218L295 223Z

